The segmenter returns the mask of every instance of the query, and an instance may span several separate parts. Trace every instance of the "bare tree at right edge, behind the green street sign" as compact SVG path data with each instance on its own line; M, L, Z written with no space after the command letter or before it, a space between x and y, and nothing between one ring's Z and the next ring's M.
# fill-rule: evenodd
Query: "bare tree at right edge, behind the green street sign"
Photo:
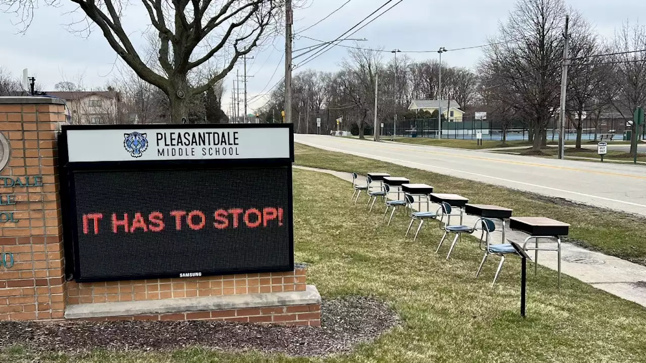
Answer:
M631 119L635 109L646 105L646 52L634 52L641 49L646 49L646 26L624 23L614 36L612 51L625 53L610 57L616 62L610 81L610 87L615 90L612 106L624 119ZM638 132L634 123L632 132ZM630 154L634 156L636 152L637 144L633 142Z

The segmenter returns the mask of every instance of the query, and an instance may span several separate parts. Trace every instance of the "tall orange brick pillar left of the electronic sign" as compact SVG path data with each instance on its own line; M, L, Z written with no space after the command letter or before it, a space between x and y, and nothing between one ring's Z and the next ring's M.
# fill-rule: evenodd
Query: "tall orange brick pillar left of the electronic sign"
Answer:
M0 97L0 320L63 318L65 272L56 134L63 101ZM0 139L2 137L0 136ZM11 263L13 260L13 264Z

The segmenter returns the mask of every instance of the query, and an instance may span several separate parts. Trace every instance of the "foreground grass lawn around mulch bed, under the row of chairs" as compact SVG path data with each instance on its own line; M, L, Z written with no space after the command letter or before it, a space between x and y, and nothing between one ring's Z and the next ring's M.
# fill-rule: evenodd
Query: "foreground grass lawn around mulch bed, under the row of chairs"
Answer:
M298 147L298 163L360 172L393 165ZM346 161L343 161L346 160ZM362 165L365 161L365 165ZM409 169L416 181L419 174ZM428 174L428 173L426 173ZM539 267L528 278L528 317L519 316L518 258L510 257L499 283L490 287L497 258L474 278L481 258L477 243L464 239L450 261L434 253L437 223L426 225L416 242L404 238L408 218L400 212L390 226L382 211L351 205L349 183L334 176L294 171L296 260L309 264L308 283L327 297L370 295L384 300L403 324L349 355L326 359L256 353L230 354L189 348L174 352L49 355L20 347L4 349L0 362L643 362L646 309ZM428 178L433 178L428 174ZM456 183L459 180L451 180ZM464 181L464 187L472 182ZM457 186L457 184L455 185ZM500 191L494 191L498 195ZM475 196L475 192L472 192ZM361 199L365 202L365 197ZM576 227L575 229L579 229ZM443 252L446 253L444 247Z

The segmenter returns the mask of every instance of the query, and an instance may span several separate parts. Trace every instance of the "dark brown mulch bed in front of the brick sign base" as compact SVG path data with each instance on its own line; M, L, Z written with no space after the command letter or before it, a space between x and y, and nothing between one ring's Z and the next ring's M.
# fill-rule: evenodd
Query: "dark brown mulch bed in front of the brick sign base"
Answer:
M22 344L36 351L84 353L172 350L201 346L226 351L261 351L322 357L371 342L400 323L373 298L323 300L322 327L286 327L229 322L0 322L0 348Z

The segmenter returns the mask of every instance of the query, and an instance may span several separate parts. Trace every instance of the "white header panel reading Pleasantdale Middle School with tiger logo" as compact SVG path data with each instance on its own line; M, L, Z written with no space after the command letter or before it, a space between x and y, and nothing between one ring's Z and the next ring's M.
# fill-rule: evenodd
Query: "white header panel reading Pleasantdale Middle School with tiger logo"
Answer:
M67 130L68 160L151 161L289 158L289 129Z

